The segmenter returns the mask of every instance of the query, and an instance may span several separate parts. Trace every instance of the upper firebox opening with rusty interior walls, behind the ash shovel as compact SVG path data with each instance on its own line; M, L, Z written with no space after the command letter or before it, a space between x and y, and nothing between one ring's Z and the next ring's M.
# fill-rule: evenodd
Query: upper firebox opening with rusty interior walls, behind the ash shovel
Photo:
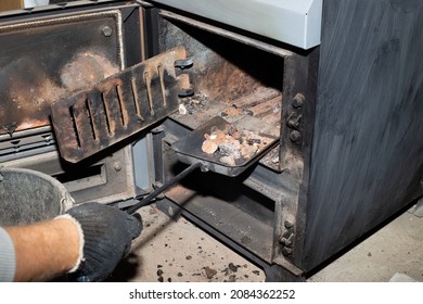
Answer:
M193 61L194 96L171 118L192 129L215 116L244 119L280 136L283 56L175 20L158 26L159 52L182 45Z

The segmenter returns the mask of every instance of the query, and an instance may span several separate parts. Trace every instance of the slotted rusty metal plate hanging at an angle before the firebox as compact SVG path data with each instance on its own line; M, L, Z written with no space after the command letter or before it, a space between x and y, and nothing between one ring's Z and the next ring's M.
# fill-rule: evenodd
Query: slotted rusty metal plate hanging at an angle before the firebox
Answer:
M187 86L175 62L185 58L185 49L177 47L54 103L62 157L78 162L175 112L178 92Z

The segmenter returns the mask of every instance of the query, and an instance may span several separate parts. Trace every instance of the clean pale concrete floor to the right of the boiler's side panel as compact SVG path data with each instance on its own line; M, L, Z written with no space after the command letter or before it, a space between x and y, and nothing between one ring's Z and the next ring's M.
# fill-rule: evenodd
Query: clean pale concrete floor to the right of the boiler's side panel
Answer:
M316 282L423 281L423 218L408 212L309 278Z

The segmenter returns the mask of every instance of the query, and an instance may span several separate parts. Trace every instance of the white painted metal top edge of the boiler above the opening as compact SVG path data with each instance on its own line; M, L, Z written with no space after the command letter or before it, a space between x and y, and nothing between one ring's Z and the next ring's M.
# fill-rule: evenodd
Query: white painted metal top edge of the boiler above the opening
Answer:
M323 0L153 0L302 49L320 45Z

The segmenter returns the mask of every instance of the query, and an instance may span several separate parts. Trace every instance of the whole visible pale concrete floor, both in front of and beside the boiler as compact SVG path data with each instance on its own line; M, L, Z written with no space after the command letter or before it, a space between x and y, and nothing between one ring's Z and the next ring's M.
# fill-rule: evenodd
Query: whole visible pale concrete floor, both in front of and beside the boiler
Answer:
M264 271L185 218L140 211L142 236L110 281L262 282ZM400 276L402 275L402 276ZM307 278L310 282L423 281L423 218L408 212Z

